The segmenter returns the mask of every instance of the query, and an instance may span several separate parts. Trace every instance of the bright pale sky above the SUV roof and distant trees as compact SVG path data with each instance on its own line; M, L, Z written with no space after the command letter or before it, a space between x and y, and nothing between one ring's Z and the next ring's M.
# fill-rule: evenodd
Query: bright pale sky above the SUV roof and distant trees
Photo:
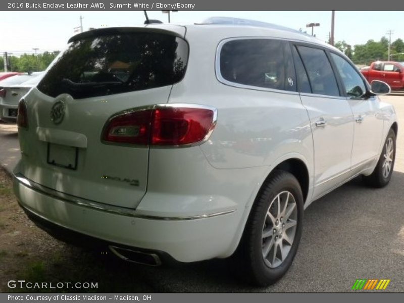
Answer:
M335 12L335 41L345 40L348 44L363 44L380 40L393 30L391 40L404 40L403 12ZM0 52L59 51L66 47L67 40L75 33L74 27L83 28L133 26L144 22L143 11L133 12L0 12ZM253 19L308 30L308 23L320 23L314 33L321 40L328 40L331 31L331 12L195 12L171 13L171 23L198 23L209 17L226 16ZM160 11L148 12L149 19L168 22L167 14ZM387 36L388 38L388 36Z

